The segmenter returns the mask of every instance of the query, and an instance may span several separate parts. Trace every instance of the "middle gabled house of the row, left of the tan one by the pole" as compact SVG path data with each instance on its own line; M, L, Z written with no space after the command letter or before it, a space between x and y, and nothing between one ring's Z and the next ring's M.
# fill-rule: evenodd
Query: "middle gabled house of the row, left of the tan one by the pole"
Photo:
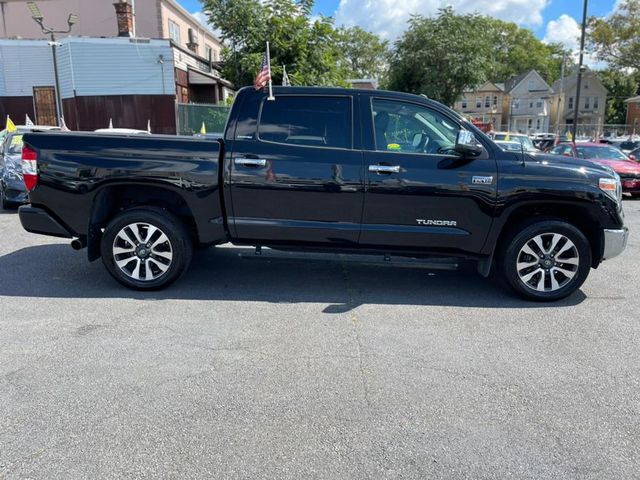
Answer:
M549 131L553 89L535 70L522 73L505 83L509 101L505 102L503 115L508 129L521 133Z

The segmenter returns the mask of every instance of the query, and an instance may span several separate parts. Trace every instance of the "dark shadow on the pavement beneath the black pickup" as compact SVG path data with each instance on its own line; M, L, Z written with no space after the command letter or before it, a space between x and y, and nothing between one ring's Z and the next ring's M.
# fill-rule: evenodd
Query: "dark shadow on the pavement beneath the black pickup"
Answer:
M219 247L196 252L187 274L168 289L135 292L116 283L100 261L89 263L86 251L32 246L0 257L0 296L329 303L324 312L336 314L364 304L558 308L586 298L578 291L551 304L527 302L473 269L372 266L324 257L256 257L253 249Z

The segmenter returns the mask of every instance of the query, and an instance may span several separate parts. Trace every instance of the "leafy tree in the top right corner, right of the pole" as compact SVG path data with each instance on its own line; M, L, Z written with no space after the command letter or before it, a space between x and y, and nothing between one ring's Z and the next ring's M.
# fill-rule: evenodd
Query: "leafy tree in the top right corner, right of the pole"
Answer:
M640 0L623 0L613 15L589 19L589 45L615 68L640 69Z

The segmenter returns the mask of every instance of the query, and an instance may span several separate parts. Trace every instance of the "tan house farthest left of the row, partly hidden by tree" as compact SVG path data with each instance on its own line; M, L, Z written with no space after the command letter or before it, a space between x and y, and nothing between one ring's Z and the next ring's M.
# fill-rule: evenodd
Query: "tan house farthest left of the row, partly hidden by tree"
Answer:
M485 82L478 87L466 89L453 108L466 117L491 124L494 130L500 130L504 120L503 104L506 101L504 84Z

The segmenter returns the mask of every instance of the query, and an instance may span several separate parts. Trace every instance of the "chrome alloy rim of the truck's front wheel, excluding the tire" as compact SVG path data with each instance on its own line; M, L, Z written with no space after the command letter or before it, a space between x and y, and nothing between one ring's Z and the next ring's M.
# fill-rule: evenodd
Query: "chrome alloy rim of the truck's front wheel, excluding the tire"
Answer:
M538 292L555 292L578 273L580 255L575 244L559 233L542 233L527 241L518 253L520 281Z

